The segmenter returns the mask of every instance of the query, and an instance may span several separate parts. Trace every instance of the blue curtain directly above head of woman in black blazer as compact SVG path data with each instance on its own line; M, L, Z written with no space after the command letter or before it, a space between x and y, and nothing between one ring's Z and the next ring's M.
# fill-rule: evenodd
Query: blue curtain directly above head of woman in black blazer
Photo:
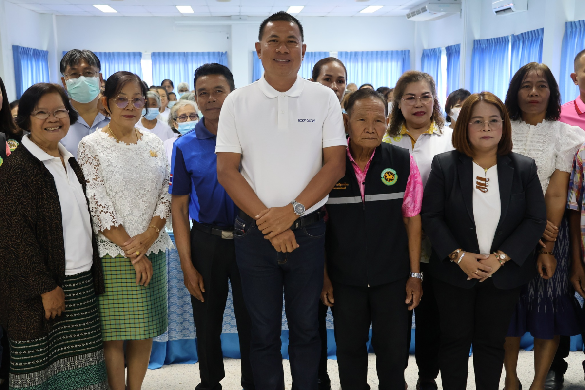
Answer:
M510 84L510 36L473 41L472 92L490 91L505 99Z

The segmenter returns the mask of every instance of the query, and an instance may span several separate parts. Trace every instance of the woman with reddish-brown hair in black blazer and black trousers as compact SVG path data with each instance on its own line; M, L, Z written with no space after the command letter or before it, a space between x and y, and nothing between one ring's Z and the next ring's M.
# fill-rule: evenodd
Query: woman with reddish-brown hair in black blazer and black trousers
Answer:
M421 212L433 246L441 378L445 389L466 389L473 343L476 389L496 390L520 288L536 275L545 202L536 164L511 152L510 118L491 92L464 102L453 146L433 160Z

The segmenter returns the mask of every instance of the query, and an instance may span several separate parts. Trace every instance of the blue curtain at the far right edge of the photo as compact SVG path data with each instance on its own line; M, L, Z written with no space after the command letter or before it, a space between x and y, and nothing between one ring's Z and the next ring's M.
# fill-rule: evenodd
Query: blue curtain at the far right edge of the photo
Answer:
M573 61L579 51L585 49L585 20L565 23L565 36L560 52L560 97L563 103L573 101L579 96L579 87L573 84Z

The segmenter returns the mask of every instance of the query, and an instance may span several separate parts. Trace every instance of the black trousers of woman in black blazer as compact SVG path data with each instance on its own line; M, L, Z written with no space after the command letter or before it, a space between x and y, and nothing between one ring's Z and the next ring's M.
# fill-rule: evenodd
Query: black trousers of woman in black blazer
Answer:
M439 365L443 388L467 388L469 349L473 343L476 389L498 390L505 336L520 288L495 288L491 278L469 289L438 279L433 282L441 323Z

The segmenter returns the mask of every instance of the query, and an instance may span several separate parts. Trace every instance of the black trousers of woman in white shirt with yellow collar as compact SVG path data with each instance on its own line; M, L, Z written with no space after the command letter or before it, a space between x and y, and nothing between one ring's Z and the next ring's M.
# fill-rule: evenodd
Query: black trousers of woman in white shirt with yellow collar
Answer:
M433 288L434 281L429 264L421 263L421 271L425 277L422 281L422 299L414 309L417 329L414 333L415 354L417 357L418 377L432 380L439 375L439 346L441 345L441 329L439 323L439 307Z

